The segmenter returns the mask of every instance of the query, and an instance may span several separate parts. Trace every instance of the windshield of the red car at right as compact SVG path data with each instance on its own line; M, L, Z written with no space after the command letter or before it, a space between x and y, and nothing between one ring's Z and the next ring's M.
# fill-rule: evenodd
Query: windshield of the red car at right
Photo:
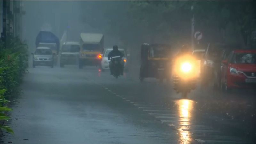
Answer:
M235 53L232 59L235 64L256 64L256 53Z

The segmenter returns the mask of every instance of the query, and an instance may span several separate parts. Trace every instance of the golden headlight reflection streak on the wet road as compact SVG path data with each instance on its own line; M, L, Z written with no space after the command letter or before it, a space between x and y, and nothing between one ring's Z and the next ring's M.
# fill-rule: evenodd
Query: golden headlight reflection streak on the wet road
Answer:
M190 123L191 123L191 109L193 108L193 101L182 99L178 100L177 104L179 106L179 143L189 144L191 143L190 137Z

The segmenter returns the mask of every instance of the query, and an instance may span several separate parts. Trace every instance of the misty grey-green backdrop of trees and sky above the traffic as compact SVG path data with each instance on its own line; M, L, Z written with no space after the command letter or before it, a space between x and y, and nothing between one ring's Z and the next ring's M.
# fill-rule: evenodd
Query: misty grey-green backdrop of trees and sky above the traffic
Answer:
M23 39L30 51L42 29L61 39L79 41L81 32L103 33L104 47L119 47L140 59L143 43L164 43L173 52L191 44L191 18L195 32L203 38L196 48L208 43L249 45L255 27L254 1L24 1ZM191 6L193 5L193 11Z

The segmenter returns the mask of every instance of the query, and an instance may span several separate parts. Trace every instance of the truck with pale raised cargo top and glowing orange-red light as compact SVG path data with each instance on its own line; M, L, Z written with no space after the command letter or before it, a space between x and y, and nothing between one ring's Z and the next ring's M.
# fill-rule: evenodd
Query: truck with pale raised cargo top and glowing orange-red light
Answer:
M80 34L80 54L78 60L79 69L85 65L101 65L102 52L104 50L104 35L99 33Z

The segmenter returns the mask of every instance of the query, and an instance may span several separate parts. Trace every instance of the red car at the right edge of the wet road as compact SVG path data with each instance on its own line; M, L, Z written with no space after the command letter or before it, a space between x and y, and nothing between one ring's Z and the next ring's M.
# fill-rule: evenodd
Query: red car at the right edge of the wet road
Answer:
M221 64L221 89L256 88L256 50L234 50Z

